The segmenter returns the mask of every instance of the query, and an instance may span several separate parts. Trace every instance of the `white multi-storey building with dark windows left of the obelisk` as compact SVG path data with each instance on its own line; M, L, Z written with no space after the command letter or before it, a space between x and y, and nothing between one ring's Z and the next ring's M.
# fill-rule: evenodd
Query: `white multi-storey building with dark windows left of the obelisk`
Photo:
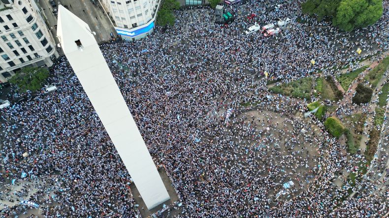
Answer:
M51 67L55 41L34 0L0 0L0 83L25 66Z

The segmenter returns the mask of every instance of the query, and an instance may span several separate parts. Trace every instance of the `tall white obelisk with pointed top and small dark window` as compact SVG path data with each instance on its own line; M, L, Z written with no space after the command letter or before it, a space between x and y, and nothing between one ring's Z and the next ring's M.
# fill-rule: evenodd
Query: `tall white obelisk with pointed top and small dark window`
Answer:
M91 32L80 18L59 5L61 48L150 210L168 200L146 144Z

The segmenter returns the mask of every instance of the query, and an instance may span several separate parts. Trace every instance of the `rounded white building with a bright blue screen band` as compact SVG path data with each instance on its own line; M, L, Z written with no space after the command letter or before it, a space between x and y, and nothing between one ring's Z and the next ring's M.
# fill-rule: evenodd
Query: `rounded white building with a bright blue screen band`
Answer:
M161 0L103 0L125 40L136 40L153 32Z

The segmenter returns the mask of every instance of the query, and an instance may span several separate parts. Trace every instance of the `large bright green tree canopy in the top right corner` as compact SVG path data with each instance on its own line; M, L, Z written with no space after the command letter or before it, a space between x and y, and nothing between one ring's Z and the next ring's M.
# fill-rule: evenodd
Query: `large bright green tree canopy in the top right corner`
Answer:
M345 31L374 24L383 14L382 0L307 0L302 12L332 18L334 26Z

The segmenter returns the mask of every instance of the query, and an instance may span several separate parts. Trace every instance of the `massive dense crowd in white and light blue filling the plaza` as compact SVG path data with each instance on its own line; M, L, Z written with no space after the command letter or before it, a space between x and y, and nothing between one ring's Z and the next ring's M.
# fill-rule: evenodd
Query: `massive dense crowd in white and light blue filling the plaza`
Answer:
M366 189L349 197L357 191L350 181L334 185L357 161L348 162L345 147L322 122L312 118L315 130L295 116L305 112L305 100L271 95L262 75L281 82L319 69L334 75L333 67L387 51L388 1L375 25L352 33L302 15L301 0L266 13L262 3L230 7L237 17L223 28L211 9L179 10L174 27L100 45L156 165L165 168L183 204L174 216L384 216L388 192ZM242 11L257 16L249 21ZM293 22L277 38L242 31L278 17ZM42 191L27 200L45 217L139 216L130 175L65 57L49 80L57 91L27 93L27 101L0 111L0 183L39 184ZM22 158L25 152L29 157ZM353 158L365 163L361 155ZM294 186L276 201L288 181ZM0 215L26 207L6 206Z

